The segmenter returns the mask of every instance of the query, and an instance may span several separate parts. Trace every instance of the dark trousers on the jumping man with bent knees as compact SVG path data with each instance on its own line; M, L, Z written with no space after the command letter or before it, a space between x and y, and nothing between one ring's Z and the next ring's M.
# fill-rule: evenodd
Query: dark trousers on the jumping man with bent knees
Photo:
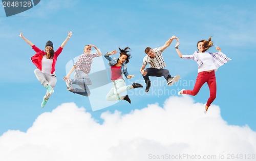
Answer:
M150 78L148 77L164 77L167 81L168 78L172 78L172 76L170 76L170 73L168 70L166 69L156 69L156 68L146 68L147 71L147 75L143 76L145 83L150 82Z

